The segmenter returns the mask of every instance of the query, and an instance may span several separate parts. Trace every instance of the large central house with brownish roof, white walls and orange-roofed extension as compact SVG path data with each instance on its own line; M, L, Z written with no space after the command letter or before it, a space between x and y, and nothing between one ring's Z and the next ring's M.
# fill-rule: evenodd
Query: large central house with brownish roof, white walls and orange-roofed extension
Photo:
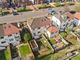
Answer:
M29 30L31 31L32 36L35 39L40 38L41 34L47 34L48 37L50 37L52 35L55 35L55 33L57 33L57 29L55 29L54 26L52 27L52 22L48 17L34 18L32 23L30 25L29 24L28 24ZM55 29L55 30L48 31L49 29Z

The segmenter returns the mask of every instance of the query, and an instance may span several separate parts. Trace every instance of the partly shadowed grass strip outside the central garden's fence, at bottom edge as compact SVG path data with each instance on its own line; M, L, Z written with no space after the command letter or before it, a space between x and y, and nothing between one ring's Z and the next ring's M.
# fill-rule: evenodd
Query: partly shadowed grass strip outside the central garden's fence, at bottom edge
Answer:
M55 53L55 54L48 54L48 55L45 55L43 57L39 57L39 58L36 58L36 60L56 60L58 59L59 57L62 57L65 55L66 53L66 50L67 48L59 51L58 53Z

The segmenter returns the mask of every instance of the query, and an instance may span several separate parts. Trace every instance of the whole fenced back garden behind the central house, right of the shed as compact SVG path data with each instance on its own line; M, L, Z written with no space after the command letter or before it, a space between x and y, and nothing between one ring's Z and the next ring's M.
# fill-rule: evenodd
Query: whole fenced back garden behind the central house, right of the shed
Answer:
M48 55L50 53L54 52L54 49L49 44L48 40L45 38L45 36L42 36L38 41L39 46L39 54L38 57L43 57L45 55Z

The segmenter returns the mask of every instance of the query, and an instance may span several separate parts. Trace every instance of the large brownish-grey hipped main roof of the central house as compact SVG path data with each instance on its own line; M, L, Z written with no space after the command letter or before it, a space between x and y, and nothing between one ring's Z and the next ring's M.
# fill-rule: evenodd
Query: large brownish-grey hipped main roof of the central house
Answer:
M40 18L34 18L33 19L33 22L31 24L32 29L43 27L43 26L51 26L51 21L49 18L40 17Z

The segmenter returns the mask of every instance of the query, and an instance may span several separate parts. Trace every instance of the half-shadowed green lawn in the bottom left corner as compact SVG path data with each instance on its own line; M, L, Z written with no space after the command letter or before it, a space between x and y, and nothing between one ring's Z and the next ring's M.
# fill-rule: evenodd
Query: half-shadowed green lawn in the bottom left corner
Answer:
M0 51L0 60L11 60L11 54L8 49Z

